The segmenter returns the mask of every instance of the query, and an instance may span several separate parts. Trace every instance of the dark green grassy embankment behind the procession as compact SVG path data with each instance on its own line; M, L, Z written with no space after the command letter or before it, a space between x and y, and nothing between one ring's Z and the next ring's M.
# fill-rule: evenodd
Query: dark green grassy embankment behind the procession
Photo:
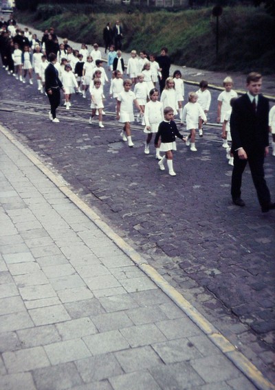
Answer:
M60 36L102 45L107 21L124 25L124 51L146 49L158 53L167 46L175 64L210 70L251 71L265 74L275 69L274 19L261 8L224 8L219 19L219 56L216 58L216 19L211 8L168 12L104 14L70 12L70 7L50 12L21 13L19 20L44 30L52 25ZM71 8L72 9L72 8ZM89 10L91 11L91 10ZM61 12L50 16L52 13ZM46 16L47 15L47 16Z

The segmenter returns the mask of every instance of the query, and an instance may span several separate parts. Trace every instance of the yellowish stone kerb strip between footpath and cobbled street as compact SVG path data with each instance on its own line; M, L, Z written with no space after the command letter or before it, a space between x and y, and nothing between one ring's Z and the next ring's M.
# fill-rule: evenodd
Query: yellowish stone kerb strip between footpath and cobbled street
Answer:
M14 146L17 146L25 157L28 157L34 165L36 165L45 176L47 176L52 183L63 192L69 200L74 203L83 211L83 213L94 222L94 224L106 234L117 246L120 248L150 279L168 296L181 310L201 329L208 338L216 345L220 351L227 356L232 363L241 371L247 378L254 383L254 385L260 390L275 390L275 386L267 379L264 378L263 374L257 369L236 347L230 343L225 336L223 336L217 328L212 325L198 310L192 306L187 299L181 295L173 286L171 286L162 275L160 275L153 266L148 264L143 257L135 251L129 244L127 244L123 238L118 236L113 229L104 222L95 211L81 200L72 190L69 190L68 184L61 178L59 178L52 170L47 168L44 163L36 156L33 151L28 150L23 146L10 131L0 126L0 131L5 137L7 137Z

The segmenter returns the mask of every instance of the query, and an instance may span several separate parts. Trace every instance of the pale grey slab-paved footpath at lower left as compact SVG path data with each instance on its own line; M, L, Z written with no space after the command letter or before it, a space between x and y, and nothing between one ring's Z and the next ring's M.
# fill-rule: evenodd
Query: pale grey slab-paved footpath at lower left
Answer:
M3 134L0 145L0 389L256 389Z

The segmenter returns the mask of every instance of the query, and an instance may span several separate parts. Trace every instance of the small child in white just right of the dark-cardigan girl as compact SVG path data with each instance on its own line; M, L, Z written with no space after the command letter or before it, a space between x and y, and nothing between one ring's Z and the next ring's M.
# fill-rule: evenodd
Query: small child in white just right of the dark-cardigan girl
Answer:
M184 111L182 112L181 122L186 121L186 130L190 131L190 134L186 138L186 146L191 146L191 152L197 152L197 148L195 146L195 135L196 128L199 126L199 117L203 119L203 122L207 122L206 114L203 109L197 102L197 93L190 92L188 94L188 103L184 106Z

